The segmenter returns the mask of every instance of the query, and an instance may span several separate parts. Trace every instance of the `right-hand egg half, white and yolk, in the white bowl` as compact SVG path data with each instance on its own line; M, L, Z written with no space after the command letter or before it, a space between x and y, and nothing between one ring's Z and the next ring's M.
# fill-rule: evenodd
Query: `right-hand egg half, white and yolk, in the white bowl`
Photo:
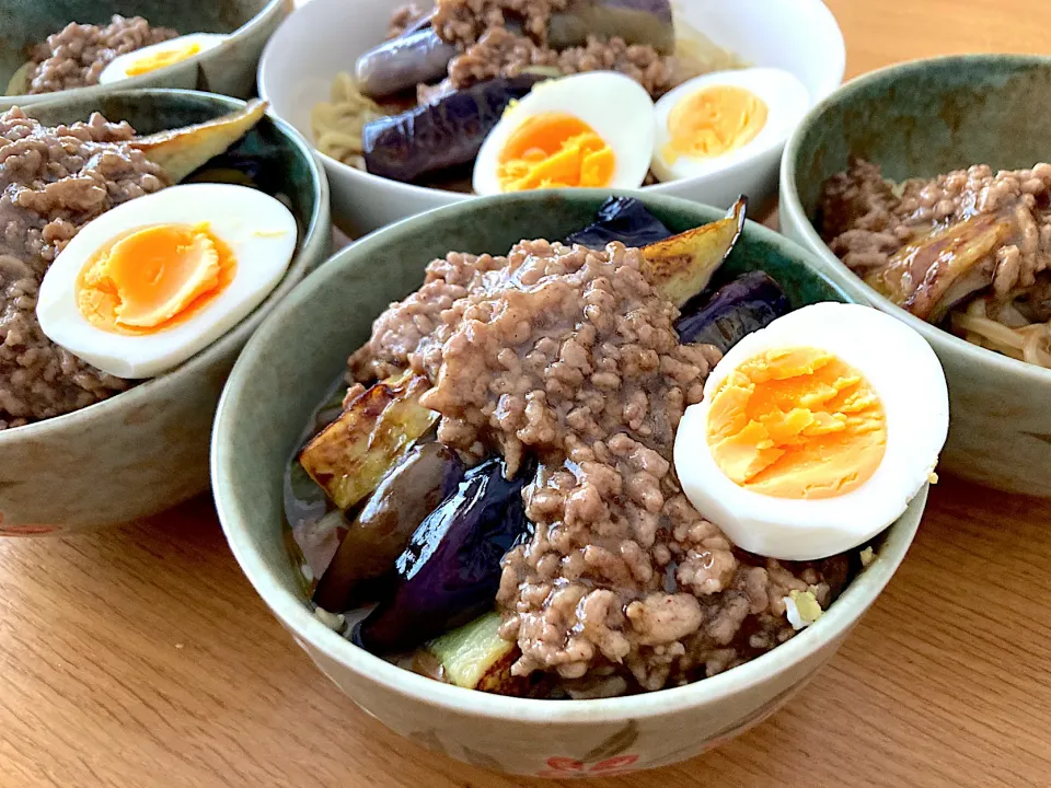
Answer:
M783 144L809 106L806 86L781 69L689 80L657 102L654 174L660 181L706 175Z

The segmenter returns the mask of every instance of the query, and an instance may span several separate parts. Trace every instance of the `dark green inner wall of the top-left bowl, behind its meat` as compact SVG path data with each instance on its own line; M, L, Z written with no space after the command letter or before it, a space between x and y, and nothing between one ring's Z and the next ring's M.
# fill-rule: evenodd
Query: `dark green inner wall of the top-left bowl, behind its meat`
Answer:
M114 14L143 16L153 26L180 33L232 33L269 0L0 0L0 93L30 50L70 22L107 24Z

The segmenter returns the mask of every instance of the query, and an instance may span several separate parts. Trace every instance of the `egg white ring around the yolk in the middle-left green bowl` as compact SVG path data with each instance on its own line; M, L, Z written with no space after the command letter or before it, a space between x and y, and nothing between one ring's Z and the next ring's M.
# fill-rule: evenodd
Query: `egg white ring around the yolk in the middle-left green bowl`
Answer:
M76 283L94 253L128 231L155 224L199 224L236 259L233 281L188 320L155 334L126 335L88 321ZM139 197L89 222L48 268L36 316L44 334L117 378L153 378L177 367L244 320L277 287L296 252L296 218L263 192L231 184L186 184Z

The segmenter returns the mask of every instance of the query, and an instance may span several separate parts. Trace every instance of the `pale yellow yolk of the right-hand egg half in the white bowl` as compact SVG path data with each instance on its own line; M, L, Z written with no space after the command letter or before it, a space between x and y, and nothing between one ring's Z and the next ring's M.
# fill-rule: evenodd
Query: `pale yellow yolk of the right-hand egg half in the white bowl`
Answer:
M662 153L669 164L680 157L711 159L748 144L766 125L766 103L751 91L718 85L698 91L668 115L669 141Z

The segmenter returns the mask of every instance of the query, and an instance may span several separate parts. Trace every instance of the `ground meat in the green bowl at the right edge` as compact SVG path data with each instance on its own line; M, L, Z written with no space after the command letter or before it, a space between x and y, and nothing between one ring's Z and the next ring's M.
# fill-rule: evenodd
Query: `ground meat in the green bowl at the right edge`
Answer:
M1051 266L1051 164L993 172L979 164L934 178L913 178L899 189L877 165L856 159L829 178L821 196L820 230L856 274L888 265L906 244L937 228L983 215L1013 220L1014 232L985 262L1001 298L1031 288Z

